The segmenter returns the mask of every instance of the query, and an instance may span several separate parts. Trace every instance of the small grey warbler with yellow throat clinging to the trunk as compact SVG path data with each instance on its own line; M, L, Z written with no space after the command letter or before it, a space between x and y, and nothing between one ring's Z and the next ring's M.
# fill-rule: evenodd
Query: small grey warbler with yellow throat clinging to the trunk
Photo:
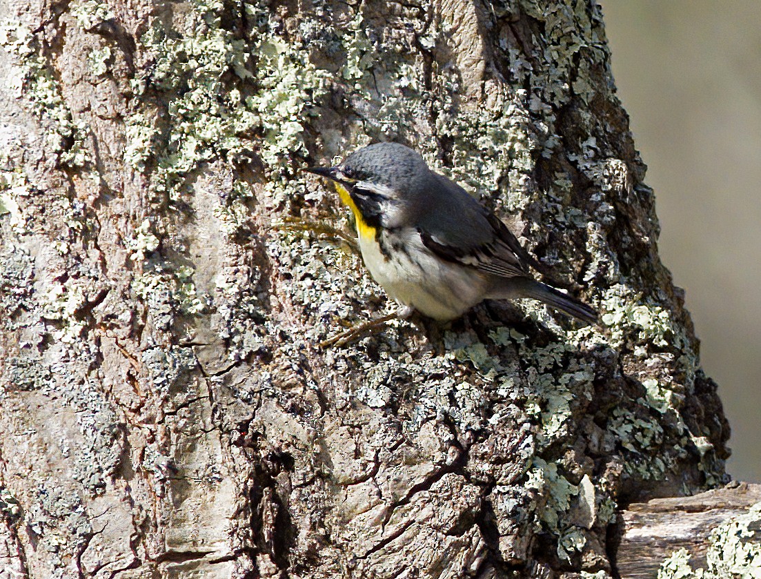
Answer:
M486 299L530 297L587 323L597 312L533 278L538 262L496 215L399 143L368 145L336 167L310 167L336 184L354 214L370 274L402 304L447 321Z

